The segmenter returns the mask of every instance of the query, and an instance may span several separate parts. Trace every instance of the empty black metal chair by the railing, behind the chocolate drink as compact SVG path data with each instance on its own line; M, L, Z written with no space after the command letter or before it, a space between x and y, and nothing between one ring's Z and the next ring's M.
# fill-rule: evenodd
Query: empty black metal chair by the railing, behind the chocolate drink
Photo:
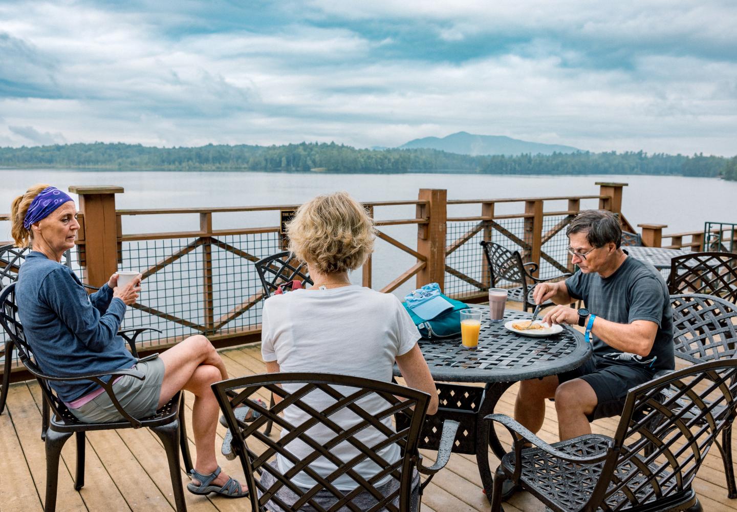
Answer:
M489 265L491 288L496 288L499 281L510 281L511 283L517 284L518 286L509 288L507 300L522 302L523 311L525 312L528 308L535 308L535 303L532 300L532 292L537 283L557 281L572 275L566 272L555 277L539 279L532 275L538 269L537 263L523 263L519 251L511 252L498 243L487 241L481 241L481 246L483 247L483 255L486 257L486 263ZM542 306L545 307L552 304L553 302L548 300Z

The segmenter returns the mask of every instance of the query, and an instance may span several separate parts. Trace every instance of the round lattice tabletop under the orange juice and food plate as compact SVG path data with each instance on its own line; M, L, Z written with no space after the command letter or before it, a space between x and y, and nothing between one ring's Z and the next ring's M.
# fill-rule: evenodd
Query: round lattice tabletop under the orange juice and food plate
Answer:
M504 327L531 314L506 311L504 319L492 322L488 306L482 311L478 348L461 345L461 336L435 340L422 339L419 347L436 381L515 382L562 373L581 366L591 355L591 347L581 333L564 326L563 331L546 337L523 336ZM394 375L399 376L397 367Z

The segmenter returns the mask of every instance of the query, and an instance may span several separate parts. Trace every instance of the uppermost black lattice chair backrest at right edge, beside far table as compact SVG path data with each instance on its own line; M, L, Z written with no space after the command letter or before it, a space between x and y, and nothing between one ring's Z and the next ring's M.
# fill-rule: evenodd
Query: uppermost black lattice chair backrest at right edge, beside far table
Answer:
M674 257L668 276L671 294L708 294L737 303L737 254L694 252Z

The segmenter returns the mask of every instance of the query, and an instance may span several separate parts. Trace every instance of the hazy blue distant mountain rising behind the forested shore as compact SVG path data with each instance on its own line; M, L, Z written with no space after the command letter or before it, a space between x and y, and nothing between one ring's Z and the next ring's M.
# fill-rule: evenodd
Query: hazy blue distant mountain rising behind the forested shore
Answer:
M425 137L414 139L407 144L399 146L400 149L438 149L448 153L461 155L508 155L516 156L523 153L533 155L552 155L553 153L576 153L579 151L571 146L557 144L540 144L539 142L527 142L525 140L511 139L500 135L475 135L465 131L451 134L440 139L439 137Z

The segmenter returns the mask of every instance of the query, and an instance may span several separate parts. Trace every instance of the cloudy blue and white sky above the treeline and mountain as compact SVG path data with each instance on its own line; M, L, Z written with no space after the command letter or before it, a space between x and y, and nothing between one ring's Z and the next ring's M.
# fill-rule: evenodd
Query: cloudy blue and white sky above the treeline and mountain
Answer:
M735 0L0 0L0 146L737 154Z

